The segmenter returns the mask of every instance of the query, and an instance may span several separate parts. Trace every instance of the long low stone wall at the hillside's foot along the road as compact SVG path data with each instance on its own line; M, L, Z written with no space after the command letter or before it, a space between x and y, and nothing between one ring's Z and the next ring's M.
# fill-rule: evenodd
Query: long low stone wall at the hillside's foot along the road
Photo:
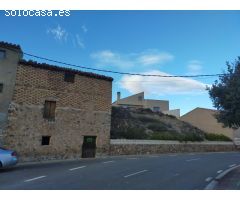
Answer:
M183 152L236 151L232 142L178 142L156 140L111 140L110 155L144 155Z

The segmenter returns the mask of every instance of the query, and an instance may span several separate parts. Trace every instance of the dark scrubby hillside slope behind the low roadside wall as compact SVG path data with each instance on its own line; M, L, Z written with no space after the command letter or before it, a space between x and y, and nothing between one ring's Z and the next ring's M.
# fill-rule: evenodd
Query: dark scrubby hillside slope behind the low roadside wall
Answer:
M155 113L150 109L112 108L112 139L203 141L206 140L207 135L173 116ZM219 139L217 136L212 140L228 140L228 138Z

